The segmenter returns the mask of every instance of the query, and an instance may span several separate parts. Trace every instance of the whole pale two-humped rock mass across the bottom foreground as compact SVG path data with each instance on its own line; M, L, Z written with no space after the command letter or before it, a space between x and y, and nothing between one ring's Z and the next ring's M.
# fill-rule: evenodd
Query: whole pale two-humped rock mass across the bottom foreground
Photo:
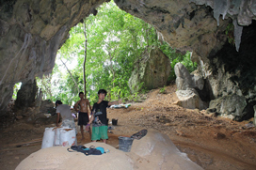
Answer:
M69 152L68 147L47 147L29 155L16 169L202 169L180 152L168 135L158 131L150 130L140 140L135 139L131 152L123 152L100 142L85 146L104 147L109 152L86 156L81 152Z

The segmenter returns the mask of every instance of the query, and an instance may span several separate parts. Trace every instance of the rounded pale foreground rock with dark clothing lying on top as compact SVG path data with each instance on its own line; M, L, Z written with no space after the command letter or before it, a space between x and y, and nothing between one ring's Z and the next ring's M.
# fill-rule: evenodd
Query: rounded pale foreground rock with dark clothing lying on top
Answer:
M133 161L122 151L104 143L88 143L86 147L104 147L110 150L104 155L86 156L81 152L69 152L69 147L47 147L32 153L16 169L133 169Z

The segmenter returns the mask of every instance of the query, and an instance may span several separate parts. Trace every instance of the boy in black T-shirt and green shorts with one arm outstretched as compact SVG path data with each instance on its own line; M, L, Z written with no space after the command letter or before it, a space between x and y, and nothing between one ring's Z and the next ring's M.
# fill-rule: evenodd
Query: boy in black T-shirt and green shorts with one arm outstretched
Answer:
M96 142L97 140L103 139L103 142L106 143L107 136L107 119L106 119L106 108L113 104L120 104L121 100L118 101L107 101L104 100L106 96L106 91L100 89L98 91L99 100L93 104L92 115L89 119L88 125L86 127L87 131L92 123L92 132L91 140Z

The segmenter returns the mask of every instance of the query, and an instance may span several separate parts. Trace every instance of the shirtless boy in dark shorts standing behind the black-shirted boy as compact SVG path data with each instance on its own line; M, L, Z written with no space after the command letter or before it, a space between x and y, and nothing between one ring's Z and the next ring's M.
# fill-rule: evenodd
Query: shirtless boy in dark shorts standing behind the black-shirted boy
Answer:
M84 128L83 126L87 125L88 124L88 108L91 112L91 106L89 104L89 101L88 99L85 99L85 95L83 92L80 92L79 93L79 98L80 100L78 100L73 108L74 110L78 113L78 126L80 126L80 131L81 131L81 134L82 134L82 140L85 139L85 136L84 136ZM78 106L80 106L80 109L78 110ZM88 132L89 132L89 138L91 138L91 131L90 129L88 129Z

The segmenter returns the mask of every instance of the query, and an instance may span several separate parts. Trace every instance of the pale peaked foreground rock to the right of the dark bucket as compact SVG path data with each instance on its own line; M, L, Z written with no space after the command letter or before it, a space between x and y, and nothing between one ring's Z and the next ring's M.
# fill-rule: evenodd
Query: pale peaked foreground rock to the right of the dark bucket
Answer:
M154 130L148 131L140 140L134 140L131 154L138 169L202 169L175 147L168 135ZM139 156L140 160L133 154Z

